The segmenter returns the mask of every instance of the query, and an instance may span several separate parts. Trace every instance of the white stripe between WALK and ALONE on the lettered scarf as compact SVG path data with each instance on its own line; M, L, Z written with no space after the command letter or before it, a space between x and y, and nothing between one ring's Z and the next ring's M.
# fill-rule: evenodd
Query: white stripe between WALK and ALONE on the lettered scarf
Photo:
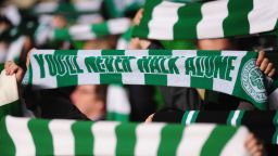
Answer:
M169 74L167 75L167 86L173 87L190 87L191 83L191 77L189 75L185 75L185 60L188 57L197 56L195 50L174 50L172 51L173 55L175 56L186 56L178 58L176 62L176 66L179 68L179 75L176 74ZM168 65L165 65L168 66Z

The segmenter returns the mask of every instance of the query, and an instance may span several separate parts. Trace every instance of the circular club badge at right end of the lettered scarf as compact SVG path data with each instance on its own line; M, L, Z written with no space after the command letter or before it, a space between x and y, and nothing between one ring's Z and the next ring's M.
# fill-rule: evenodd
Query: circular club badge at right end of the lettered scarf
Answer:
M267 101L264 78L255 62L256 60L250 60L244 64L241 73L241 86L255 102L264 103Z

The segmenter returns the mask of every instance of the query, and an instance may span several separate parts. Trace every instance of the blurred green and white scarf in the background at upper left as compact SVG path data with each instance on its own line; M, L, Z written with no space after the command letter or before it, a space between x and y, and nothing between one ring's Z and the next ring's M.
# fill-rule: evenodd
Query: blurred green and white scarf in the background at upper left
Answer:
M74 25L68 28L55 29L51 39L54 40L90 40L109 35L124 34L130 25L128 18L115 18L100 24Z

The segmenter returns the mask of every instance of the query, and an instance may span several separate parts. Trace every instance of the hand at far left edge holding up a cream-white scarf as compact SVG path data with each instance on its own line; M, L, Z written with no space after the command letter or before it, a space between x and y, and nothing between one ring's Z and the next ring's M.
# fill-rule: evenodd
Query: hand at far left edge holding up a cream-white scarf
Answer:
M22 79L24 76L24 70L22 69L22 67L20 67L12 61L9 61L4 64L4 69L5 69L5 75L12 76L13 74L15 74L17 82L18 83L22 82Z

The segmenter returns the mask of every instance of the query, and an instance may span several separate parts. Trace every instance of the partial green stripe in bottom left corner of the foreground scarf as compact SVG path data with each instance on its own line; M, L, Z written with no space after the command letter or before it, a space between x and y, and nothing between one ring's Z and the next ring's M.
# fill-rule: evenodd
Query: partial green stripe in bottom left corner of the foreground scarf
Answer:
M0 122L0 155L1 156L14 156L15 155L15 145L11 139L8 130L5 118L1 119Z

